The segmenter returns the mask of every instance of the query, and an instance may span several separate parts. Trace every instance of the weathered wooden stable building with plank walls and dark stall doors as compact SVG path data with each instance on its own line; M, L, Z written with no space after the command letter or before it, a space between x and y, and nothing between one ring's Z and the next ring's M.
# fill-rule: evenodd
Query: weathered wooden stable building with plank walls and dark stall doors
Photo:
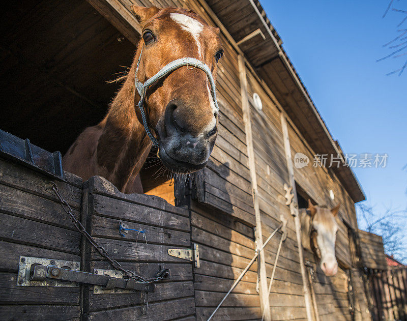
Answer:
M132 4L193 9L220 28L221 116L209 164L187 184L168 181L167 173L152 179L155 169L148 166L141 177L150 195L124 195L102 178L81 182L69 173L67 182L57 183L86 230L128 269L146 277L171 270L171 278L149 295L147 309L142 291L102 295L81 284L36 287L33 293L17 285L20 256L76 261L90 273L112 267L74 229L50 193L49 177L2 160L0 214L7 224L0 236L0 319L206 320L281 218L288 220L287 239L270 295L280 232L214 319L257 320L263 310L272 320L371 319L354 206L363 192L258 1L23 3L1 13L7 39L1 46L1 129L64 153L84 127L100 121L119 87L106 81L130 65L139 39ZM294 166L296 153L309 158L308 166ZM342 161L339 167L313 167L316 154L339 154ZM290 206L284 185L293 188ZM334 277L326 277L298 243L295 215L308 198L328 207L341 203ZM134 231L122 237L120 220L143 229L147 244ZM167 252L193 245L199 246L199 267Z

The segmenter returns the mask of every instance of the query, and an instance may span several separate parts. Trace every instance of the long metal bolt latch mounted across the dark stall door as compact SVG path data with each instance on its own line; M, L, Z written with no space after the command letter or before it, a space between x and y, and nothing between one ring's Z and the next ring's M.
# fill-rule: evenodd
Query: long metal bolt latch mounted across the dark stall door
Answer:
M124 279L123 273L111 270L95 270L95 273L79 271L79 262L20 256L17 285L19 286L79 286L94 285L95 294L153 292L152 283L138 283Z

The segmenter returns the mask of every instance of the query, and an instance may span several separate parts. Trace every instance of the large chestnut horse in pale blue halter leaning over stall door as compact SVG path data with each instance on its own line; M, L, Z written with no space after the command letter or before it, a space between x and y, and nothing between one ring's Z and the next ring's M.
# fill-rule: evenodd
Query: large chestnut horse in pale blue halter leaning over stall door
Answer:
M206 166L217 136L214 84L223 50L219 28L193 11L131 9L143 28L129 73L105 118L78 136L63 165L83 180L99 175L124 193L142 193L138 174L152 140L161 162L172 172ZM171 69L146 87L140 99L139 85L184 59L199 61L205 68L195 68L195 63Z

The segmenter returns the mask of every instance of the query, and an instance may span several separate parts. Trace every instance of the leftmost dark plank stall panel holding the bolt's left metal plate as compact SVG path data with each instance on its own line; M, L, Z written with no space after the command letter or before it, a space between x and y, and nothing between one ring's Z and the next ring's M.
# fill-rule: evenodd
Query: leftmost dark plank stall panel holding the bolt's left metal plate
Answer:
M80 319L79 287L23 286L23 257L80 261L80 234L51 192L56 182L79 219L82 180L59 182L0 157L0 320ZM20 283L21 282L21 283ZM40 282L39 282L40 283Z

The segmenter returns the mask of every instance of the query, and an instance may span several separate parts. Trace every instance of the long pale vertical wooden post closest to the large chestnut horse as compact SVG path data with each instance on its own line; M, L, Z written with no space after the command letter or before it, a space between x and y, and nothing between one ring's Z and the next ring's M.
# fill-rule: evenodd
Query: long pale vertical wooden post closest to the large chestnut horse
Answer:
M263 245L263 234L261 232L261 218L260 218L260 208L258 205L258 190L257 190L257 178L256 178L256 167L254 163L254 150L253 150L253 137L251 131L251 120L250 120L250 107L249 99L247 96L247 78L246 78L246 67L244 63L243 56L239 54L239 78L240 78L240 93L242 97L242 110L243 110L243 122L245 124L246 133L246 145L247 145L247 156L249 158L249 169L251 178L251 189L253 196L253 206L254 213L256 217L256 248L259 249ZM258 265L259 265L259 296L260 296L260 308L261 312L264 311L264 319L271 321L270 303L269 303L269 291L267 286L267 274L266 274L266 261L264 258L264 250L261 250L258 255Z

